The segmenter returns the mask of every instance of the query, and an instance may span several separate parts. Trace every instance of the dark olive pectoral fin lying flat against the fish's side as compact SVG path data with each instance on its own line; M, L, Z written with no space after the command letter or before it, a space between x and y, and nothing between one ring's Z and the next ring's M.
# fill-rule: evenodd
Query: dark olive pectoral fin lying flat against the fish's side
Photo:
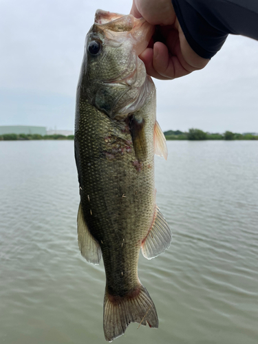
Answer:
M139 121L134 116L129 119L129 128L133 140L133 148L136 153L136 159L142 162L147 156L147 142L144 132L144 119Z

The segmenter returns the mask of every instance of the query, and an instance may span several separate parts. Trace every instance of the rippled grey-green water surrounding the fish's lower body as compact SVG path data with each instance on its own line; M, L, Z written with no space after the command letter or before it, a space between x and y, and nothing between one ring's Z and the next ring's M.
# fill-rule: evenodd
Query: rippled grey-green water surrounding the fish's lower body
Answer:
M157 203L171 248L139 276L158 330L115 343L258 343L258 146L168 142ZM0 142L0 343L105 343L105 272L78 251L73 142Z

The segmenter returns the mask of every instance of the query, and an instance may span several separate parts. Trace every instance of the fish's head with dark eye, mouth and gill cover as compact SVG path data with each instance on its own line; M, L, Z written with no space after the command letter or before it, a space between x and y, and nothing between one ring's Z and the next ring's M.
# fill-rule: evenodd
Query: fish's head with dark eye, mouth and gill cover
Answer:
M138 55L153 30L153 25L131 14L96 11L86 37L80 85L89 103L110 118L140 109L151 92Z

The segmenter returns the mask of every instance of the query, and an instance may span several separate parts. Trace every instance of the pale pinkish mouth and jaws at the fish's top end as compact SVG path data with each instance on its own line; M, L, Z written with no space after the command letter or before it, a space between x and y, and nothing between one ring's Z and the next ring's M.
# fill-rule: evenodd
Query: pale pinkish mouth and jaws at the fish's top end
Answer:
M145 19L136 19L132 14L118 14L104 10L96 10L94 25L103 30L109 41L131 39L133 48L139 56L148 46L155 31L154 25Z

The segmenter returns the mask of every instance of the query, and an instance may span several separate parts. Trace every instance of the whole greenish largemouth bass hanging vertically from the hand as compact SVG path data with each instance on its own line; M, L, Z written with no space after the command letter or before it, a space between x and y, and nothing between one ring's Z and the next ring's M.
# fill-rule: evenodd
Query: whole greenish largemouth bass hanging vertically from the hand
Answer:
M171 244L155 202L154 153L167 157L156 121L155 85L138 57L153 25L97 10L85 40L76 93L78 247L105 266L103 329L109 342L129 323L158 327L155 305L138 278L138 259Z

